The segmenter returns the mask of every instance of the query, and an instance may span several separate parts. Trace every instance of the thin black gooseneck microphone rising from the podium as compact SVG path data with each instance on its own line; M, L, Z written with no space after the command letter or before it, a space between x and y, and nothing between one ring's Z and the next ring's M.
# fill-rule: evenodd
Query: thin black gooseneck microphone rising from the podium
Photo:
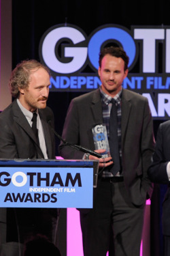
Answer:
M54 132L54 134L56 135L56 137L57 137L58 139L60 139L61 141L63 141L63 143L64 143L63 147L64 147L64 146L73 147L73 148L75 148L76 150L80 150L80 151L82 151L82 152L84 152L84 153L90 154L90 155L92 155L92 156L96 156L97 158L101 158L101 157L102 157L101 154L99 154L99 153L97 153L97 152L95 152L95 151L92 151L92 150L88 150L86 147L82 147L81 145L75 145L75 144L68 143L67 141L65 141L65 139L63 139L63 138L58 134L58 132L56 132L56 131L54 130L54 128L52 128L52 126L51 126L51 119L50 119L49 117L47 117L47 122L48 122L48 124L49 124L49 126L50 126L52 132Z

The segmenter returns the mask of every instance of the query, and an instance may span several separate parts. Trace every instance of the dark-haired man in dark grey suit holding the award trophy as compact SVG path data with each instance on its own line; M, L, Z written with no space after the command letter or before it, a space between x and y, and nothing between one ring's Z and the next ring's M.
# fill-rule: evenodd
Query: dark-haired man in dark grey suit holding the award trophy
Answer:
M154 136L148 100L122 89L128 63L122 48L104 48L99 56L101 88L73 99L65 119L63 138L69 143L95 150L92 128L98 124L106 126L109 137L111 157L99 158L93 208L80 210L84 256L104 256L110 246L115 255L139 256L146 199L152 195L147 169ZM60 152L63 158L84 157L63 143Z

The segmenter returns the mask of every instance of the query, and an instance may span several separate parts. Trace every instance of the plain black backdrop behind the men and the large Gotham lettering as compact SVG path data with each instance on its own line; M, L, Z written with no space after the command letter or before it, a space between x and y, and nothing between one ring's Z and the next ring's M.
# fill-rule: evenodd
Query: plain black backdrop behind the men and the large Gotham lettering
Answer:
M39 61L39 42L50 27L69 23L80 27L89 35L97 27L106 24L122 25L170 25L169 2L163 0L95 1L95 0L13 0L12 1L12 68L23 59ZM55 127L62 134L69 102L80 93L50 92L48 106L55 116ZM154 120L154 134L160 122ZM58 155L58 139L56 155ZM163 255L161 231L162 201L166 187L155 185L151 207L151 256Z

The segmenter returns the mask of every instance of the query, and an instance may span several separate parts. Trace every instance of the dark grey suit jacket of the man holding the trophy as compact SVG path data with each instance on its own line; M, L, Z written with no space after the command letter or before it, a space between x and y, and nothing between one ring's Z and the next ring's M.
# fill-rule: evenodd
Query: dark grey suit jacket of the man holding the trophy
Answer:
M63 138L95 150L92 127L103 124L99 89L74 98L69 106ZM148 100L126 89L122 90L122 169L132 203L142 205L152 194L147 170L154 151L152 117ZM83 152L71 147L59 147L63 158L80 159ZM95 197L95 195L94 195Z

